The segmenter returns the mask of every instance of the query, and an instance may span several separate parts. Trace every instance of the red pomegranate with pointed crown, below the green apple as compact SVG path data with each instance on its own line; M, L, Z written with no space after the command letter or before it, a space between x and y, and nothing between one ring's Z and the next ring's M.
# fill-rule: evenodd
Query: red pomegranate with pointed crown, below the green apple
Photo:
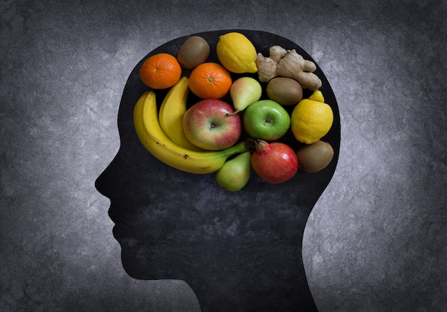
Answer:
M284 143L256 140L251 167L262 180L281 183L291 179L298 171L298 157L292 148Z

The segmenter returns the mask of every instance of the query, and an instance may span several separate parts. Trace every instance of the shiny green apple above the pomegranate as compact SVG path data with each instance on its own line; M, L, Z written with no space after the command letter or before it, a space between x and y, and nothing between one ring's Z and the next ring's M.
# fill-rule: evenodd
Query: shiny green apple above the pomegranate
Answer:
M253 139L274 141L290 127L287 111L273 100L258 100L243 113L243 128Z

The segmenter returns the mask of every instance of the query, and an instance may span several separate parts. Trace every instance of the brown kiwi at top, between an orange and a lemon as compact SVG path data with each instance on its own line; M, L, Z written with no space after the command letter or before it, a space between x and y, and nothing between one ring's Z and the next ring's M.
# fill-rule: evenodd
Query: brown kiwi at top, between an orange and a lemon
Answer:
M201 36L188 38L180 47L177 60L183 68L193 69L206 61L209 56L209 44Z

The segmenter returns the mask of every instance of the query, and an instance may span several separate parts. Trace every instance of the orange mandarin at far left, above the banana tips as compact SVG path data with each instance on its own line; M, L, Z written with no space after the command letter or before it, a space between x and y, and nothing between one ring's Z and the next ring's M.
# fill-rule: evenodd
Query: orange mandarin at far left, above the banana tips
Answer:
M171 88L180 80L181 66L177 58L168 53L158 53L144 61L140 68L141 81L149 88Z

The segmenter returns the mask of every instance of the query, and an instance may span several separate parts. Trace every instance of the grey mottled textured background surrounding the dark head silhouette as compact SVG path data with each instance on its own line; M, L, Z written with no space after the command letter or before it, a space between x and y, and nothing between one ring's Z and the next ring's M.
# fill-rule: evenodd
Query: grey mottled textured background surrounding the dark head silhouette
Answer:
M303 239L318 308L446 311L447 1L365 3L1 1L0 311L196 311L183 282L126 275L94 181L136 63L225 28L298 43L338 100Z

